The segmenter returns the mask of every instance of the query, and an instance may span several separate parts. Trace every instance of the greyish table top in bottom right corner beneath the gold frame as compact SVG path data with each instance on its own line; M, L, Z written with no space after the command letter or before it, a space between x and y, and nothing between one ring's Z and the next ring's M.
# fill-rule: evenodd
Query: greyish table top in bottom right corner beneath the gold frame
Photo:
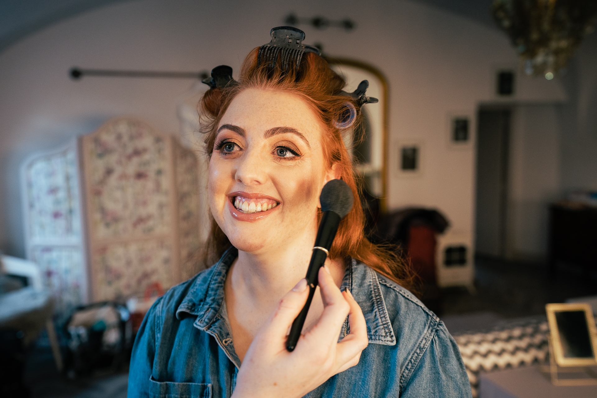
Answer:
M553 385L539 366L481 374L479 398L595 398L597 385Z

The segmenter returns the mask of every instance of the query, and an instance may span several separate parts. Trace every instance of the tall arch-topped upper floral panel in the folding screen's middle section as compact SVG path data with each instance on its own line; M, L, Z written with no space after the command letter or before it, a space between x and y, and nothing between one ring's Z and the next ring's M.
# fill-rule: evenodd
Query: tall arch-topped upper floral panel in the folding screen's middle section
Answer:
M129 119L86 138L94 237L171 233L166 139Z

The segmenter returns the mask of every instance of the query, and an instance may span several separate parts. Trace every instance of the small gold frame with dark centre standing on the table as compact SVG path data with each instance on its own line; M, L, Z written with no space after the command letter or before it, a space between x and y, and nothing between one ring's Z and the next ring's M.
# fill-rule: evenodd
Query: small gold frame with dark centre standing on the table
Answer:
M556 363L597 365L597 330L589 304L547 304L545 309Z

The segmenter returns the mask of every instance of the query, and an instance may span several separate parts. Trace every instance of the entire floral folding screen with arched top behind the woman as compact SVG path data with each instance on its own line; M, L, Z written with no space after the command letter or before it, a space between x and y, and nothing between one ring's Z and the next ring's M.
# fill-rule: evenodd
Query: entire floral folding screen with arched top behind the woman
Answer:
M132 119L24 163L27 257L57 311L142 295L155 282L167 289L198 271L197 166L176 139Z

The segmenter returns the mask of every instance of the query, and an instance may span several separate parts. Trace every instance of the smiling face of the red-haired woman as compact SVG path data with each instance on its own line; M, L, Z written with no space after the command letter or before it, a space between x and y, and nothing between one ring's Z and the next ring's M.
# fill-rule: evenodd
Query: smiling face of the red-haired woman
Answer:
M319 193L335 178L324 163L323 131L295 94L251 88L236 95L209 166L210 209L232 245L259 252L311 238Z

